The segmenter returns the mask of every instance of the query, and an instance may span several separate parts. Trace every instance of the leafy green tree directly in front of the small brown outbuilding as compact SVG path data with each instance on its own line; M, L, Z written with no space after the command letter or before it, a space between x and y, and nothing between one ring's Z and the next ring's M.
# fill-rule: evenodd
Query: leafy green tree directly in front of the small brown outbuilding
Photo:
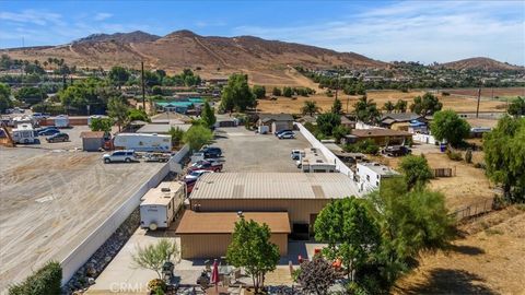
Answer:
M265 276L273 271L279 262L279 248L270 241L270 228L255 221L241 217L235 223L232 243L228 246L226 260L230 264L244 267L252 276L255 293L265 286Z

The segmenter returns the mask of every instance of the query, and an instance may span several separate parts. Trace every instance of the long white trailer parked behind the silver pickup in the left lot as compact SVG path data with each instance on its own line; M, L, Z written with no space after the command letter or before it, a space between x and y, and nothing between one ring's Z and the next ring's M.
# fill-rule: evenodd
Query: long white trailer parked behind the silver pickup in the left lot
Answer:
M113 141L115 149L136 152L171 152L172 137L156 133L119 133Z

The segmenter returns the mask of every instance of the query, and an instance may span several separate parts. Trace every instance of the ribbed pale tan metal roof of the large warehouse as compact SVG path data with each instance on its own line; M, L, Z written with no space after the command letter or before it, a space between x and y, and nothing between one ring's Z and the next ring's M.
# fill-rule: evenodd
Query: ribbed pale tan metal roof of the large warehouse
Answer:
M197 180L190 199L339 199L358 196L340 173L208 173Z

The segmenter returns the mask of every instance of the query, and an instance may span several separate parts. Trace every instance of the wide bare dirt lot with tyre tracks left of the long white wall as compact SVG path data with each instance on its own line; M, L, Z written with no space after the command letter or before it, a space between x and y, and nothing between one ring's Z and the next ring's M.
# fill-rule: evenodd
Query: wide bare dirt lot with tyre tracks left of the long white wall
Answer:
M104 165L74 145L0 148L0 291L63 259L161 167Z

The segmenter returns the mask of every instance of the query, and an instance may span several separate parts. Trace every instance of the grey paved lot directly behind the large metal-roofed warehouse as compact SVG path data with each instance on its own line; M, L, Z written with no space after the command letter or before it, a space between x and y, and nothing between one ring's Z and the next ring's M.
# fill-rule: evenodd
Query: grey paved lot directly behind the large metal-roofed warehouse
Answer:
M245 127L219 128L214 146L222 149L223 172L300 172L290 152L310 148L308 141L294 131L295 139L279 140L273 134L258 134Z

